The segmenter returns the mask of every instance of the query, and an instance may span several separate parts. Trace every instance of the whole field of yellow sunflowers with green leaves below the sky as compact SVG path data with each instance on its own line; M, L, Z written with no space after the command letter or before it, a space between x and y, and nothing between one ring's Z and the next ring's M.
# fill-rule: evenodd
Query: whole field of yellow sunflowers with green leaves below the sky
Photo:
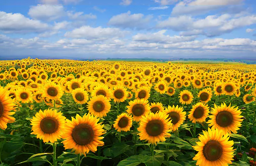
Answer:
M0 61L0 165L256 165L256 65Z

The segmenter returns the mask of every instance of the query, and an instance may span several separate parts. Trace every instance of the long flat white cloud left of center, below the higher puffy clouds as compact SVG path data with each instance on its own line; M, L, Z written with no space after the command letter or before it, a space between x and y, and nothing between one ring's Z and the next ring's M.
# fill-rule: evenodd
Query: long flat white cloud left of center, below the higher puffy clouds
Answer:
M71 38L86 38L89 40L105 40L108 38L124 37L126 33L126 31L121 31L118 28L93 28L90 26L83 26L74 29L71 32L66 32L65 36Z

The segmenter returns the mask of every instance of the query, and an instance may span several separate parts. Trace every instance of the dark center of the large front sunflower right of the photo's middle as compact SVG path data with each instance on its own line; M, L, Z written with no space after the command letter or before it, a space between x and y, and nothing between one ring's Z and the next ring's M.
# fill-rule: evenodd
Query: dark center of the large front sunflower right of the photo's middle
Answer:
M150 136L157 136L163 132L163 123L159 120L152 120L146 125L146 132Z

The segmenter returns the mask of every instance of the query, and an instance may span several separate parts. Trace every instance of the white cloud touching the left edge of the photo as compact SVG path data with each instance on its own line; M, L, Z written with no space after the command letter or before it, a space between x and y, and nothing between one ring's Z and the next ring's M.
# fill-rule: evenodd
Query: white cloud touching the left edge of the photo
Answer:
M0 11L0 31L5 33L37 33L44 32L49 28L47 23L29 19L20 13Z

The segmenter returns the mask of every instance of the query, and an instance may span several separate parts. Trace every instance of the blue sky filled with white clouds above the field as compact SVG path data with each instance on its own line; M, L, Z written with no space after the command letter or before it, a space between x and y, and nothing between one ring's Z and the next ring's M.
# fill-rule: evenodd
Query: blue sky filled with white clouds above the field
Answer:
M0 59L256 60L254 0L0 1Z

